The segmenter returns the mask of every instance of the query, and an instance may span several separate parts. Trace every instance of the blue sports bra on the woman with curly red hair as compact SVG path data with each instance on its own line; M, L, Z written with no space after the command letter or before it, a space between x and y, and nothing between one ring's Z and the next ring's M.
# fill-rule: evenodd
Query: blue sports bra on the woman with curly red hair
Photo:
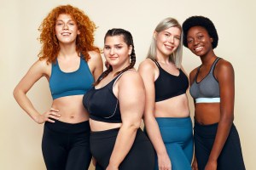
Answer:
M58 59L52 63L49 89L53 99L71 95L84 95L94 82L87 62L80 57L80 65L77 71L63 72L60 69Z

